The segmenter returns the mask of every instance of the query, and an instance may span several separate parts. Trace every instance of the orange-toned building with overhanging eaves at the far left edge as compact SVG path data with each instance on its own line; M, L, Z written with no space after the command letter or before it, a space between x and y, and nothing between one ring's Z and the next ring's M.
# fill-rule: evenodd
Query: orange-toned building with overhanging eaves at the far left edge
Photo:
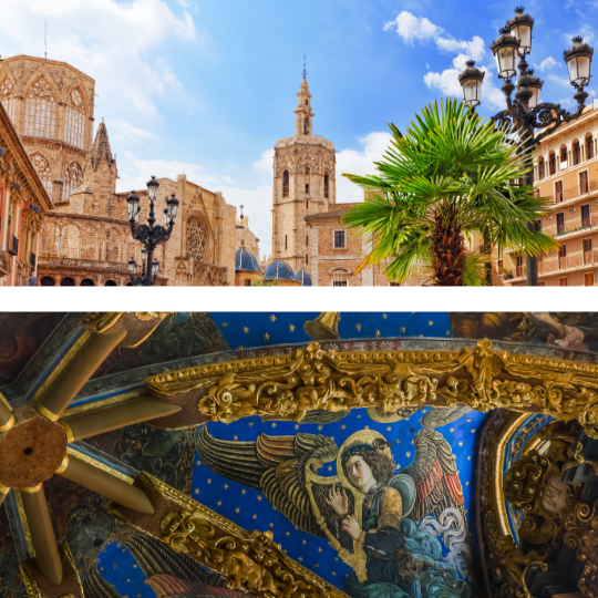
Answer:
M34 285L42 216L52 202L0 102L0 287Z

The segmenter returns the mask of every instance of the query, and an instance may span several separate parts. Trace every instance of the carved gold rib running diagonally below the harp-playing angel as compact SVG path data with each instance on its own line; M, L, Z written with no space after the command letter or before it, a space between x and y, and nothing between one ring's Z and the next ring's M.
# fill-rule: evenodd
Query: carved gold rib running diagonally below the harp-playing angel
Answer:
M259 598L347 598L289 558L271 532L247 532L187 495L143 472L137 478L154 515L113 505L111 513L227 579L229 589Z

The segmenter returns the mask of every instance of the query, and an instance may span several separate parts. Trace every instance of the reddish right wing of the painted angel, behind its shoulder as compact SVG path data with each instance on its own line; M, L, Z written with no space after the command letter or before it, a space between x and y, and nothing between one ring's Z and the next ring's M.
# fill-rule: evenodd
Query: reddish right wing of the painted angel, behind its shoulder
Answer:
M410 518L419 522L430 513L440 518L446 507L455 507L466 520L463 488L451 445L435 430L420 430L413 444L415 458L401 471L415 482L415 505Z

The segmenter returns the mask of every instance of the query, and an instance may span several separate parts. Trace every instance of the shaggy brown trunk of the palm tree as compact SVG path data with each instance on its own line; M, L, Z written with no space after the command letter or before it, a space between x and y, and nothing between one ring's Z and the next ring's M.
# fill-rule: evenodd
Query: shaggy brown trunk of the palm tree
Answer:
M466 256L458 209L436 209L432 231L434 286L463 287Z

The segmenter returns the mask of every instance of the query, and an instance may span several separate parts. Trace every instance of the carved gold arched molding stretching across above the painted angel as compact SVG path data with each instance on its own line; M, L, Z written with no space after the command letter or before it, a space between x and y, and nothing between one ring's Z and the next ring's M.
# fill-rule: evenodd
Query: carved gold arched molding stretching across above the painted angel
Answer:
M489 340L456 351L323 351L210 363L151 377L150 392L198 392L207 421L250 415L301 421L311 410L421 404L540 412L577 419L598 437L598 365L495 351Z

